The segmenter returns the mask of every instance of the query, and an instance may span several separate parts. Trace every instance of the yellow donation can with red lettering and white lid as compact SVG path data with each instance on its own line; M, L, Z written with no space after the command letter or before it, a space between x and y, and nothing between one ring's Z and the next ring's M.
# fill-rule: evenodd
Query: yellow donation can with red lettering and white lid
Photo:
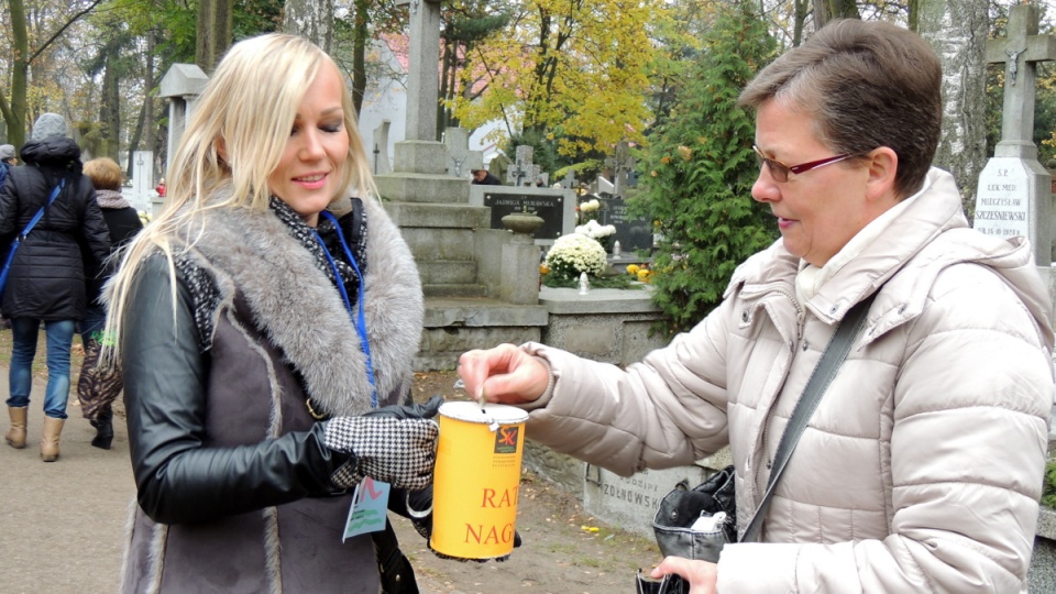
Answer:
M460 559L496 559L514 550L525 421L519 408L444 403L432 484L429 544Z

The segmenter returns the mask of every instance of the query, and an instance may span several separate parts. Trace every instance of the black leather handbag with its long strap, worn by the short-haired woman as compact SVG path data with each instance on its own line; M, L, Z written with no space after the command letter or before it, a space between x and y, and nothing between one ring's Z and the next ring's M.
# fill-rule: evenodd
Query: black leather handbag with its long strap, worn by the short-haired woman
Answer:
M744 530L740 542L755 542L759 537L762 519L770 508L774 486L784 472L789 459L792 458L792 451L817 408L822 394L836 376L836 371L847 358L855 338L865 326L866 314L878 293L879 289L847 312L825 348L825 352L822 353L781 436L778 451L773 457L766 494ZM683 481L664 495L660 499L657 515L652 520L660 552L666 557L684 557L717 563L723 547L727 542L738 542L737 496L734 483L734 466L730 465L692 490L688 491Z

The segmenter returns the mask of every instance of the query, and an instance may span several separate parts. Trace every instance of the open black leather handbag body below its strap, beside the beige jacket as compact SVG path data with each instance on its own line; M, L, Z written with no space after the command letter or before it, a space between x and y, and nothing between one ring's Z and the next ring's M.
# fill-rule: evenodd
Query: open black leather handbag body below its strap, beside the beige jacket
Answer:
M723 513L724 518L714 518ZM710 524L694 529L697 520ZM727 542L737 542L737 496L734 492L734 466L726 466L692 490L685 481L663 496L652 520L657 544L666 557L684 557L718 562L718 553Z

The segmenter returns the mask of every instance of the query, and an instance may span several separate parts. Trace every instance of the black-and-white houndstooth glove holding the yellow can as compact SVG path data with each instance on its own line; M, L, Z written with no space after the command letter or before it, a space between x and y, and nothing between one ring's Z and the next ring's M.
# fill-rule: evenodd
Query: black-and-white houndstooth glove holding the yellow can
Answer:
M439 435L437 422L426 418L334 417L326 421L326 446L353 458L330 481L351 488L370 476L395 488L422 490L432 483Z

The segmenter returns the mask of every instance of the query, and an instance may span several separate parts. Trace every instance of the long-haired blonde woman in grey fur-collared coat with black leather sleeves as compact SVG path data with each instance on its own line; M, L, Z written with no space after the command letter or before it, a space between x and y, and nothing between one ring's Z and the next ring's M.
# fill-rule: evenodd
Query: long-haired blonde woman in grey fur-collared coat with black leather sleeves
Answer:
M380 591L372 535L343 539L352 488L430 498L439 403L398 406L421 286L366 163L315 45L264 35L218 65L109 286L139 503L124 591ZM403 562L384 579L415 592Z

